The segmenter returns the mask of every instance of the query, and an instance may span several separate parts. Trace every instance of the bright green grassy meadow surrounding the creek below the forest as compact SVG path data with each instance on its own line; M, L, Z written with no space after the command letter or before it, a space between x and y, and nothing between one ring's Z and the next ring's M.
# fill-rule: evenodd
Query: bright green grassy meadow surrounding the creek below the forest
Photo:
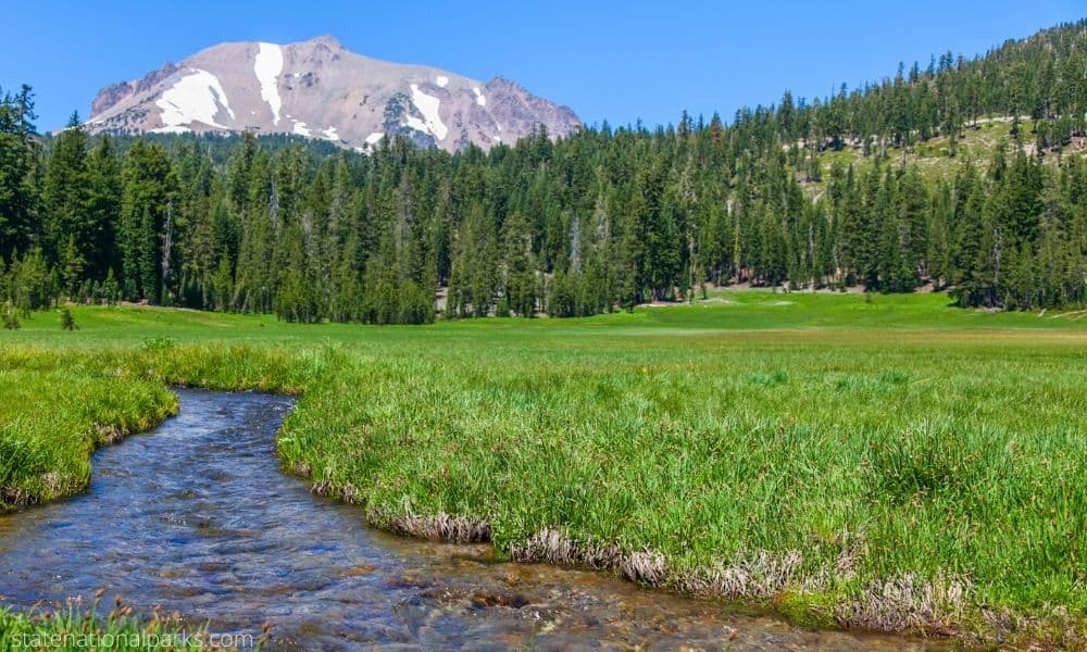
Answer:
M820 625L1083 642L1087 318L717 292L425 327L78 308L0 331L7 506L176 409L301 393L284 467L375 525ZM9 398L11 397L11 399Z

